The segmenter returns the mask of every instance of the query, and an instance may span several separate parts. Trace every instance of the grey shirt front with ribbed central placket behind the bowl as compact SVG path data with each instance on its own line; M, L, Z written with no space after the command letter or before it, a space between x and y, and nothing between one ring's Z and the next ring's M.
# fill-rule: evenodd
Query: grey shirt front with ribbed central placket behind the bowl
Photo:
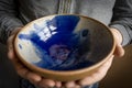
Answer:
M19 0L19 2L22 13L34 19L57 13L75 13L109 24L116 0Z

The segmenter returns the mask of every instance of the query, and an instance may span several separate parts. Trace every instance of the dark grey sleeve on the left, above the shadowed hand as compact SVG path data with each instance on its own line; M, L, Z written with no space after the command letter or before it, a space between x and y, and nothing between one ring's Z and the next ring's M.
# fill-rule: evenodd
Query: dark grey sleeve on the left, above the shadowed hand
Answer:
M0 0L0 42L7 43L10 33L22 26L21 20L18 18L18 8L15 0Z

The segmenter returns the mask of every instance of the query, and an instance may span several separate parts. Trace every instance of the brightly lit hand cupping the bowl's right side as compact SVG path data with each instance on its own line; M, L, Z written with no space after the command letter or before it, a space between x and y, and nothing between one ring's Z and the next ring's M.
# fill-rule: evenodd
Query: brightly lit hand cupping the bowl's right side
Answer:
M88 85L92 85L99 80L101 80L108 69L110 68L111 64L112 64L112 59L114 56L121 57L124 55L124 50L121 45L122 42L122 35L121 33L117 30L117 29L111 29L111 32L114 36L116 40L116 50L113 55L109 58L108 62L106 62L96 73L94 73L91 76L88 76L84 79L77 80L77 81L68 81L65 82L65 87L66 88L80 88L81 86L88 86Z

